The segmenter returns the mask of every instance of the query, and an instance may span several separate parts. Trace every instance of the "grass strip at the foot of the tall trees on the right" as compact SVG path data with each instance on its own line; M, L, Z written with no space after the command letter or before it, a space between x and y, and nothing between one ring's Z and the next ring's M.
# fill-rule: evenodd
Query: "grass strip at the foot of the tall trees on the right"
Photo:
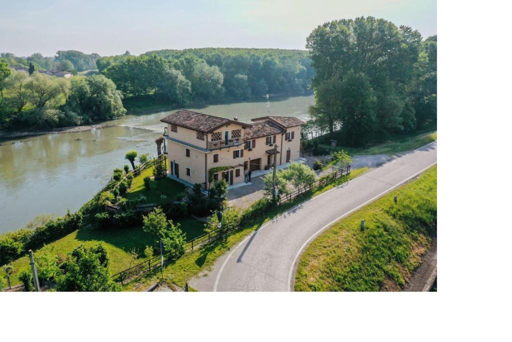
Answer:
M345 150L350 155L362 155L362 154L399 154L415 150L426 144L432 143L437 140L437 131L423 133L419 135L397 137L390 140L388 143L380 144L372 147L354 149L351 147L336 147L336 151ZM321 145L322 147L329 150L328 145ZM331 151L334 152L334 151Z

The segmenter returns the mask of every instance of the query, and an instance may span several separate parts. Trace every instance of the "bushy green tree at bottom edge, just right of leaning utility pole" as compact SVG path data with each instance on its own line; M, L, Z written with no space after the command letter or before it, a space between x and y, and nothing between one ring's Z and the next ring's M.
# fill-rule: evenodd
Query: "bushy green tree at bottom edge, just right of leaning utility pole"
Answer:
M118 291L119 285L110 278L109 257L101 244L91 248L75 248L61 265L57 277L58 291Z

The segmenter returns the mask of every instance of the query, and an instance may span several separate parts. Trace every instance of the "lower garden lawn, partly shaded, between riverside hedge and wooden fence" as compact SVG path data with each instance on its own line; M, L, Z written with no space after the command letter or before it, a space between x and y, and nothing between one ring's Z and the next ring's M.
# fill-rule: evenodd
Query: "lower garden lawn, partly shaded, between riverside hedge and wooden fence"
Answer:
M187 241L205 233L204 225L197 220L184 218L177 220L176 223L180 224L180 229L186 234ZM37 259L39 255L53 254L63 258L81 244L92 246L98 242L105 246L110 258L110 272L115 274L144 261L142 252L146 246L154 245L154 237L144 232L141 227L99 230L88 226L34 251L34 257ZM130 256L129 251L133 248L140 255L137 260L133 260ZM28 256L15 260L12 266L14 275L11 277L11 283L12 285L20 284L17 275L20 271L29 269Z

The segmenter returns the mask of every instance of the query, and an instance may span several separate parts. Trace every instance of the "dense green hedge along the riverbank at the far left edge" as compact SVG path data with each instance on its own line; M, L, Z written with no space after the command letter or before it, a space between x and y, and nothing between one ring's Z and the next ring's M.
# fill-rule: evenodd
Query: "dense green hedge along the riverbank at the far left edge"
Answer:
M43 244L65 236L83 225L80 212L68 213L64 217L50 220L45 226L34 230L20 229L0 235L0 265L22 256L30 249L36 249Z

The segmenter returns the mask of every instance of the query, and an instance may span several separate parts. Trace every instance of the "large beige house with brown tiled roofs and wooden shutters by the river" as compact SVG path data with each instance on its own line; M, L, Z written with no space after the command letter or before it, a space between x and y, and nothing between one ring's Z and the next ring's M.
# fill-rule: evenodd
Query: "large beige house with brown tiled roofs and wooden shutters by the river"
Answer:
M278 166L298 159L305 124L293 116L264 116L247 124L185 109L160 121L167 124L168 176L205 189L210 180L244 182L244 170L269 169L274 154Z

